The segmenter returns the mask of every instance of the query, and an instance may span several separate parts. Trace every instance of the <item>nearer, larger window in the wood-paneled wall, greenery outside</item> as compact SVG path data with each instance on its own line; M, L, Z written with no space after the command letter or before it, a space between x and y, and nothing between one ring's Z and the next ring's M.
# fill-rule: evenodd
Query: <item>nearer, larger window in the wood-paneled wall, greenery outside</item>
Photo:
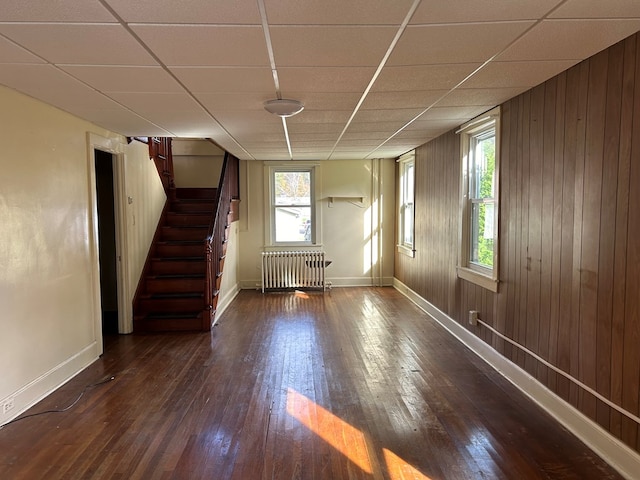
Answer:
M463 125L458 276L497 291L499 109Z

